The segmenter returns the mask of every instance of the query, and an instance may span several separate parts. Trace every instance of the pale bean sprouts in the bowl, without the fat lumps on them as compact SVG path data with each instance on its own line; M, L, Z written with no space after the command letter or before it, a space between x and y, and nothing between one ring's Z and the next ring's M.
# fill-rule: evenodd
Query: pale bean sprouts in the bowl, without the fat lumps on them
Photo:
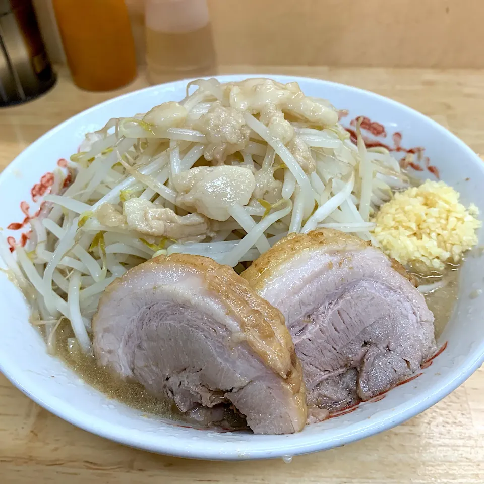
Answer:
M196 90L189 94L192 86ZM288 143L275 137L249 107L240 111L250 128L249 141L223 162L253 173L263 170L280 180L280 200L252 199L246 205L229 206L230 218L218 221L214 233L198 241L103 225L96 210L109 203L122 214L130 197L149 200L178 215L190 212L179 206L172 178L195 164L214 164L204 158L207 136L193 129L193 122L214 103L228 105L230 99L224 93L230 86L210 79L189 87L179 104L188 112L190 124L160 130L143 121L143 114L110 119L99 131L88 133L80 152L71 157L68 168L73 182L67 189L62 189L65 175L55 171L43 209L30 220L32 235L26 247L17 246L11 254L2 241L2 256L29 298L32 321L44 328L50 351L59 324L68 320L75 334L69 344L89 353L91 319L101 294L115 278L145 260L161 254L199 254L240 269L241 263L247 266L286 234L319 227L354 232L375 243L372 214L393 192L408 186L398 161L387 150L365 147L359 124L354 144L337 123L315 126L304 116L292 118L294 133L306 143L315 162L315 170L307 173ZM334 109L327 101L314 102Z

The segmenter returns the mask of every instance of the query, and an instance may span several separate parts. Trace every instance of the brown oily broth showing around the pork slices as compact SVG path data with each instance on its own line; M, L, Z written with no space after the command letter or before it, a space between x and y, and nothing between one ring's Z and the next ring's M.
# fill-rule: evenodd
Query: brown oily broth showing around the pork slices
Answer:
M443 273L423 274L413 266L409 272L416 276L420 284L431 284L442 277L448 281L444 287L426 294L429 309L435 316L435 336L438 338L449 321L457 300L459 266L447 264ZM84 355L75 348L69 348L68 339L74 333L69 324L64 324L58 330L56 349L57 355L72 368L86 383L104 393L107 397L122 402L146 414L157 415L180 422L189 421L187 415L181 413L174 402L150 395L139 383L128 383L113 377L107 370L96 365L93 357ZM245 428L244 420L234 414L228 407L225 411L225 421L230 428Z

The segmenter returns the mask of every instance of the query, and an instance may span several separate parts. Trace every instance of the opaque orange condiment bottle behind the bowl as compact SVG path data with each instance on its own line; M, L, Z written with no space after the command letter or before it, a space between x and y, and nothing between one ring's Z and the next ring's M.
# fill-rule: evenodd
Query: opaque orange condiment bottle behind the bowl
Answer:
M124 0L53 0L74 82L109 91L136 76L136 54Z

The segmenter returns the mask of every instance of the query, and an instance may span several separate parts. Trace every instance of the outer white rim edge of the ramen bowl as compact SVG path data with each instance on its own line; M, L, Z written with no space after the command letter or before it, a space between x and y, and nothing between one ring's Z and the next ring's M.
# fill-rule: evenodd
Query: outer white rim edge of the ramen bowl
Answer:
M291 75L276 75L276 74L233 74L233 75L221 75L213 76L221 82L230 82L246 78L256 77L270 77L281 82L304 82L318 85L318 87L324 89L325 86L331 89L337 89L340 91L352 91L356 92L359 96L367 99L378 99L381 102L391 105L394 108L398 108L401 111L408 113L413 117L420 118L423 122L429 124L436 129L442 136L450 137L450 139L456 143L460 149L462 149L469 159L478 166L484 178L484 166L477 154L467 146L462 140L456 137L449 130L439 125L433 119L425 116L424 114L412 109L404 104L401 104L393 99L387 98L377 93L360 89L357 87L340 84L323 79L303 77L303 76L291 76ZM207 78L207 77L206 77ZM141 92L150 93L156 92L157 89L165 89L168 86L180 87L185 86L187 82L192 79L182 79L166 84L160 84L155 86L149 86L136 91L108 99L102 103L98 103L72 117L65 120L63 123L55 126L47 133L43 134L36 141L30 144L24 149L3 171L0 173L0 184L4 183L6 179L14 174L14 170L18 169L24 163L25 158L28 158L35 150L37 146L45 142L46 139L55 136L58 132L68 128L70 124L75 123L78 119L82 118L88 113L96 111L100 106L107 107L110 104L118 103L119 101L128 97L140 94ZM339 447L351 442L360 440L362 438L378 434L385 430L391 429L400 423L405 422L409 418L427 410L429 407L446 397L449 393L455 390L461 385L473 372L475 372L484 363L484 340L477 345L467 357L456 365L455 368L448 370L448 374L444 380L440 383L438 388L434 391L426 390L422 391L418 397L403 401L401 404L395 407L393 414L387 418L382 418L379 421L357 422L350 426L348 429L340 434L337 440L324 439L321 433L311 434L288 434L282 436L253 436L250 444L241 442L220 442L210 439L205 439L203 445L197 445L194 449L192 446L187 445L187 438L183 437L171 437L156 439L155 436L147 435L146 433L130 433L121 424L114 424L105 422L98 417L92 417L86 411L79 410L77 407L71 404L66 404L61 398L51 396L40 385L32 385L32 379L29 376L21 374L15 371L14 361L3 360L0 354L0 372L2 372L10 382L20 389L25 395L36 402L41 407L45 408L49 412L56 416L72 423L76 427L79 427L87 432L104 437L106 439L130 446L138 449L143 449L151 452L156 452L165 455L171 455L175 457L184 457L192 459L205 459L205 460L246 460L246 459L265 459L282 456L292 456L299 454L306 454L321 450L327 450L333 447ZM415 402L415 400L417 400ZM397 410L398 409L398 410ZM354 428L357 427L357 428ZM327 432L322 430L322 433ZM274 442L274 437L277 438ZM284 443L284 441L287 441ZM244 448L244 450L242 450Z

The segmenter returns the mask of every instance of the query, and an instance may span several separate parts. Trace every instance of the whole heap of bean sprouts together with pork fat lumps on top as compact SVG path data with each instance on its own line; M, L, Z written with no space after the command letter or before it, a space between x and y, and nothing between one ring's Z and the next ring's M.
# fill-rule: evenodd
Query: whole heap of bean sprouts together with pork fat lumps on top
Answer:
M300 102L294 85L190 85L195 92L164 105L161 120L154 109L86 134L67 189L54 170L29 245L11 254L0 241L9 275L45 322L49 351L67 318L89 352L102 292L143 261L178 252L234 267L290 232L325 227L372 240L372 211L409 185L388 150L365 148L359 123L354 144L328 102ZM290 96L297 102L284 104Z

